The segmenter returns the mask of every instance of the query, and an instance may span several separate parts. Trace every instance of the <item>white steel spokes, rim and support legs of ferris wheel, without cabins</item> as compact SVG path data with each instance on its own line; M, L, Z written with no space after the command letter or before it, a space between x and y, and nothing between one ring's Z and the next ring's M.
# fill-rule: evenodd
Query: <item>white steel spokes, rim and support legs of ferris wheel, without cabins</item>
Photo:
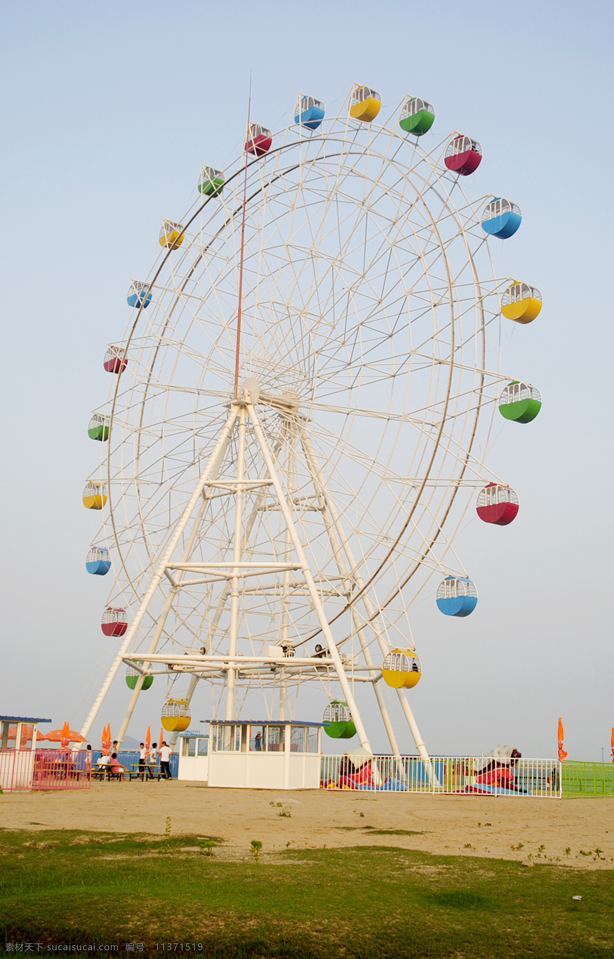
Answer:
M238 677L249 670L263 675L263 661L265 668L272 663L279 667L279 714L285 717L287 687L296 674L315 672L320 679L323 673L335 672L342 682L335 647L345 679L351 668L352 682L373 686L392 753L399 755L373 649L377 656L390 650L387 629L390 623L403 623L407 617L408 603L401 590L414 573L466 574L454 554L454 532L444 532L444 525L450 526L451 509L461 489L498 479L486 473L485 442L478 456L475 439L481 409L490 404L488 411L494 415L501 383L516 378L501 370L500 331L498 363L486 356L486 332L492 331L496 339L499 296L509 280L496 278L480 225L481 210L491 195L470 199L463 193L459 177L442 169L449 137L430 152L416 141L407 162L408 138L388 129L386 123L380 129L366 128L340 111L326 124L330 126L324 125L317 134L291 127L283 133L280 145L276 138L267 157L248 161L245 210L240 184L240 174L246 169L243 162L235 174L226 177L224 195L216 199L219 206L212 199L199 199L182 221L186 223L183 246L173 256L171 250L161 253L149 277L155 294L149 313L141 306L130 324L123 343L130 354L130 370L113 378L110 409L103 410L109 418L103 468L109 497L110 535L106 542L121 565L118 572L125 585L120 595L123 593L126 605L130 600L136 602L137 609L83 726L86 731L122 662L130 662L139 676L120 738L126 733L145 675L157 671L151 668L155 665L172 664L173 671L180 673L190 672L194 663L188 699L199 678L223 680L228 692L226 717L230 718L236 706ZM363 187L360 195L357 183ZM383 195L390 199L389 206L382 207ZM327 220L331 211L338 211L333 224L339 244ZM248 403L248 387L239 405L230 404L225 424L218 426L216 416L228 400L229 350L236 316L237 223L246 212L248 292L244 316L248 325L242 339L242 375L260 378L264 371L264 382L257 400L252 397L253 402ZM459 258L457 247L465 251L464 259L462 255ZM478 275L477 261L483 255L492 274L487 280ZM325 264L324 272L317 274L313 264ZM321 287L316 282L319 276L328 278ZM280 320L286 315L287 323ZM326 323L328 339L317 347L316 338ZM406 327L408 342L399 339L399 331ZM201 339L195 338L195 332ZM388 352L384 348L387 337L393 344ZM197 370L195 378L182 379L177 374L184 362ZM300 412L294 397L269 385L267 377L276 365L297 371L293 374L297 384L302 376ZM409 385L410 372L412 383L421 376L430 377L428 388L417 394L417 400L412 393L411 402L407 392L405 398L394 393L394 385L404 378ZM125 386L129 373L129 385ZM377 400L377 389L389 384L394 389L388 405L361 404L363 393ZM177 407L177 397L193 402L191 414ZM292 465L277 463L284 440L267 438L255 403L285 416L287 429L295 434L290 447L300 451L316 490L313 503L303 503L300 508L303 515L319 513L336 576L330 567L323 572L313 558L307 560L307 546L312 555L314 549L313 543L305 540L305 523L297 520L302 494L300 489L293 493L290 488ZM197 426L201 409L216 410L209 416L208 432ZM307 428L310 418L316 417L320 419L319 451L314 433ZM386 442L380 439L372 449L357 443L359 420L366 423L366 429L369 423L377 423ZM402 431L408 428L415 429L419 442L407 469L399 471L391 443L401 442ZM257 436L262 456L272 463L268 477L244 479L247 463L241 451L246 449L248 429ZM185 449L186 436L193 439L192 463ZM123 443L133 444L131 459L125 456ZM322 443L334 451L338 465L344 459L363 477L358 487L348 487L341 512L337 505L340 491L330 486L331 471L322 471L319 464L326 456ZM202 466L199 451L208 451L209 444L215 444L213 452ZM236 445L239 458L235 476L228 480L218 474L231 444ZM195 485L190 485L190 466L198 470ZM158 467L159 481L154 482ZM286 480L285 492L281 474ZM276 486L273 476L278 480ZM372 478L376 481L369 487ZM190 496L188 486L194 490ZM392 505L385 522L378 526L372 503L383 487ZM242 504L256 491L256 503L244 518ZM207 509L214 501L228 498L236 501L234 527L228 530L232 533L232 560L191 561ZM347 503L355 508L345 528L340 515L347 516ZM286 562L280 562L282 556L278 555L266 567L259 563L250 566L245 550L257 515L264 511L283 516ZM226 516L230 513L228 508ZM464 510L454 514L456 529L463 516ZM135 544L139 543L142 548L139 546L137 554ZM302 562L292 563L293 552L297 557L296 544L303 550ZM355 558L357 544L359 555ZM452 566L446 561L448 555L453 557ZM268 594L259 579L265 571L282 579L277 584L275 576ZM303 573L302 585L297 585L296 573ZM255 585L248 586L248 581ZM161 611L153 610L152 599L162 582L170 589ZM198 621L193 625L187 615L176 616L180 596L190 595L197 587L211 589L217 583L224 584L224 589L207 624L203 618L200 625ZM423 588L424 581L415 595ZM282 642L288 641L293 625L289 597L299 593L304 597L317 614L317 632L311 631L309 638L321 633L329 651L319 667L310 666L310 657L294 657L293 665L288 659L287 666L275 658L256 655L235 660L241 596L250 593L279 599ZM343 597L344 605L327 619L323 602L334 596ZM117 592L109 598L115 601ZM228 605L228 649L221 661L211 649ZM193 620L198 620L198 609L195 600ZM386 617L390 613L386 621L384 610ZM181 648L169 629L172 611L195 638L207 633L204 647L208 654L202 663L185 643ZM331 642L331 626L346 611L351 628L342 639ZM145 629L149 620L153 631L149 626L149 631ZM146 646L137 642L139 631L144 631L149 641ZM404 634L407 629L402 626L398 632ZM339 654L343 643L354 638L360 644L364 667L357 665L355 656L348 666ZM166 651L169 645L172 649ZM156 653L163 646L165 652ZM242 668L234 666L239 659ZM221 671L213 668L220 662L223 667L226 664ZM354 676L361 668L366 675ZM398 696L418 752L426 756L407 695L398 690ZM349 704L350 699L347 701ZM364 728L361 741L363 738L368 741Z

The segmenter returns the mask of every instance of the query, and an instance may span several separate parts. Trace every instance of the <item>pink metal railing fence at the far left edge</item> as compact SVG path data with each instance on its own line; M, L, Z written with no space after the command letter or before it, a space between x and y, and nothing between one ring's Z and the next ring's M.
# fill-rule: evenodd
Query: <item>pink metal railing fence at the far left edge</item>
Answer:
M0 788L89 789L91 755L84 749L0 749Z

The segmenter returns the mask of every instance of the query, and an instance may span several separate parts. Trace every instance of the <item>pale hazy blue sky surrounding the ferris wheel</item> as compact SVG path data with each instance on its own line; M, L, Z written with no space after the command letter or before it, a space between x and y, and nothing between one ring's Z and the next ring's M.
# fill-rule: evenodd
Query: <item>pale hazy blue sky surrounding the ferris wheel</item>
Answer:
M494 536L478 521L461 535L481 591L470 619L416 610L428 654L413 703L433 752L513 741L552 755L561 714L572 756L607 755L612 19L606 3L4 5L2 712L80 725L112 656L106 583L83 569L102 355L161 217L179 219L201 162L224 168L240 151L251 71L252 115L272 129L299 89L331 108L352 82L385 104L423 96L437 137L481 141L484 191L521 204L501 269L536 284L544 308L509 361L544 407L499 436L489 463L513 477L522 511ZM118 682L94 738L118 726L126 691ZM139 704L133 736L159 706Z

